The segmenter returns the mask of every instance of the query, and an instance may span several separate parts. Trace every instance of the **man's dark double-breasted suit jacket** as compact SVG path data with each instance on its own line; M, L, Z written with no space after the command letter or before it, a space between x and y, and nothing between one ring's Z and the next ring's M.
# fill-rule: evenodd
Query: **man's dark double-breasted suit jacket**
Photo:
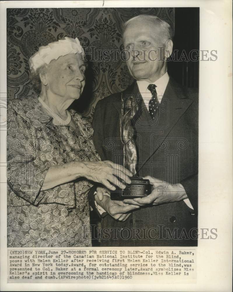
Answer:
M99 101L92 124L94 145L102 160L122 162L120 124L122 98L126 95L134 95L140 104L140 117L135 124L139 175L181 183L194 211L179 201L140 208L125 222L106 215L101 220L101 245L196 246L198 94L184 90L170 78L160 103L159 118L154 121L136 82L122 93Z

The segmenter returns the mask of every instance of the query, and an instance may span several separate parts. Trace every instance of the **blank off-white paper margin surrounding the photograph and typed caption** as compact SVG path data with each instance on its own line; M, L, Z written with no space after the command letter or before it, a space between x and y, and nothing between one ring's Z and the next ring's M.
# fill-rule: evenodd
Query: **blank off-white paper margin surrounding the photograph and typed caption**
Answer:
M200 62L199 227L217 228L216 240L199 240L196 284L6 284L6 187L1 187L1 291L232 291L232 1L1 1L1 96L6 92L6 8L200 7L200 50L217 50ZM64 5L65 4L65 5ZM4 117L3 117L4 118ZM1 143L5 143L1 131ZM3 145L3 146L2 146ZM1 162L6 147L1 146ZM1 182L4 173L1 176Z

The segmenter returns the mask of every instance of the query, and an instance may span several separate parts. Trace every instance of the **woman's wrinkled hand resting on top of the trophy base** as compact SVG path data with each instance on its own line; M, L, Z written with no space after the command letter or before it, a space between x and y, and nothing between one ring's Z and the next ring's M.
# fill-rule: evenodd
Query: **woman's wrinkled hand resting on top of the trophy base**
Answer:
M125 183L131 183L128 176L133 174L123 166L115 164L111 161L87 161L84 164L84 176L93 180L94 182L101 183L110 190L115 190L115 186L121 189L125 188L125 185L121 183L117 178L121 178ZM113 185L112 185L113 184Z

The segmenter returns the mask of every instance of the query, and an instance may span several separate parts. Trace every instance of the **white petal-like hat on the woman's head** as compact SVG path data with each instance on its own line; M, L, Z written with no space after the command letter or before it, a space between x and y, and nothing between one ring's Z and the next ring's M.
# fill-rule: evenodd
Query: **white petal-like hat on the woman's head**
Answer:
M55 41L48 44L48 46L39 47L38 52L29 59L29 66L30 69L36 71L42 65L49 64L52 60L57 60L60 56L76 53L82 53L84 55L78 38L72 39L66 36L64 40Z

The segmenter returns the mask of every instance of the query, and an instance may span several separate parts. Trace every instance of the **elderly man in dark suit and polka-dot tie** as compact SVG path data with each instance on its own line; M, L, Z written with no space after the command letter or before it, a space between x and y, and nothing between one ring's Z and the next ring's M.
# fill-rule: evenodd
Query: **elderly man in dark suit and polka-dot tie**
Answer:
M195 246L198 95L181 88L167 73L173 47L167 22L152 15L136 16L125 23L123 42L135 81L122 93L97 103L94 144L103 160L113 160L117 151L122 153L122 100L134 96L139 105L135 122L137 170L153 187L148 197L123 202L113 201L108 192L97 189L101 245ZM114 147L106 147L106 141L113 141ZM138 208L127 213L127 204Z

